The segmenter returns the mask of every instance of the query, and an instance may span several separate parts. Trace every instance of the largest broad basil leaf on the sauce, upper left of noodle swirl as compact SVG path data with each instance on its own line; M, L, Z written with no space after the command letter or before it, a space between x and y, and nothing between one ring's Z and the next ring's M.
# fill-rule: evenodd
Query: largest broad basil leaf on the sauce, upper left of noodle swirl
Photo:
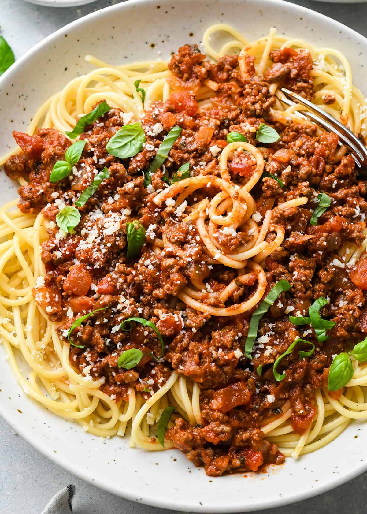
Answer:
M108 141L106 150L119 159L127 159L141 152L145 143L145 134L140 121L125 125Z

